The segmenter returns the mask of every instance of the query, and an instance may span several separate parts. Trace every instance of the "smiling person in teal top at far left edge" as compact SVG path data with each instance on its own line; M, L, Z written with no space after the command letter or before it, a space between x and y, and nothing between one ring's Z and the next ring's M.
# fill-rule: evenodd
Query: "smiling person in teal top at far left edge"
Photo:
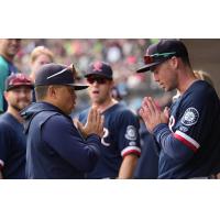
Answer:
M11 74L18 73L13 61L21 47L19 38L1 38L0 40L0 112L7 110L7 101L3 97L4 81Z

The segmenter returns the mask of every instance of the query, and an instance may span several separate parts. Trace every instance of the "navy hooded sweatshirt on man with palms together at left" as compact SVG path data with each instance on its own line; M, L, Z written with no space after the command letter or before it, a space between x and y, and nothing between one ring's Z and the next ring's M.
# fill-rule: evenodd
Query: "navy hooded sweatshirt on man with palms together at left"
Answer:
M36 102L22 112L25 119L28 178L84 178L99 158L100 138L84 140L70 117L58 108Z

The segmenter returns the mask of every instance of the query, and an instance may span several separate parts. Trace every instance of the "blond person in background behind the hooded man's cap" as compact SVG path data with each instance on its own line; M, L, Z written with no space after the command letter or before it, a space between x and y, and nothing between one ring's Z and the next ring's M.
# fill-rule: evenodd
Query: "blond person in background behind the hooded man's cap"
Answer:
M32 81L35 81L35 73L44 64L54 62L54 54L45 46L36 46L31 53L31 74Z

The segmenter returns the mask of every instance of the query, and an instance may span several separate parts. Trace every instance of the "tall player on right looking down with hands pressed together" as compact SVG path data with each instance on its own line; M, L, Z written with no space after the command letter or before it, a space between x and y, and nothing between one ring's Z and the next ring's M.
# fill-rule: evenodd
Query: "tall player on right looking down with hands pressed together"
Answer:
M180 98L162 112L151 97L140 116L160 145L158 178L215 178L220 172L220 102L213 87L196 78L186 46L177 40L150 45L145 66L165 91Z

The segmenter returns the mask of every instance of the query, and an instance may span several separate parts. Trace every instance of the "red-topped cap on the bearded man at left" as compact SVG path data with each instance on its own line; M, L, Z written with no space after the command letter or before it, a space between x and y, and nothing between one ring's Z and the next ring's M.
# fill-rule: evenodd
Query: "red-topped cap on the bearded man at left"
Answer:
M34 85L32 84L31 78L26 76L25 74L21 74L21 73L12 74L6 79L7 91L20 86L26 86L26 87L30 87L31 89L34 88Z

